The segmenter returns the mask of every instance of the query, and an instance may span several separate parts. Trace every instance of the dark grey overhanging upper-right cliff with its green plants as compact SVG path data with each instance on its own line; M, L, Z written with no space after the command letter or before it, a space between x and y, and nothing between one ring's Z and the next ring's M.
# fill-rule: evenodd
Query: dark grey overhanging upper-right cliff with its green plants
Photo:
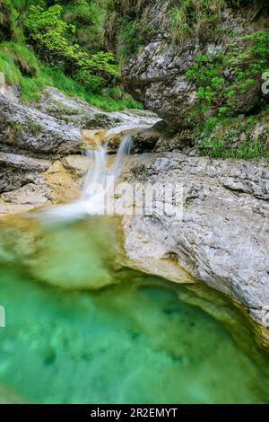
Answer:
M232 7L232 2L211 3L200 11L203 2L196 2L193 9L193 2L185 2L189 4L186 10L183 6L177 9L174 4L180 3L169 0L145 7L141 19L150 36L126 58L122 69L125 88L169 127L178 129L178 148L188 143L214 153L217 140L224 148L237 151L240 144L254 140L256 131L249 130L252 116L265 123L258 130L258 139L268 152L268 121L263 110L269 90L262 90L262 74L269 63L265 55L268 4L238 2L238 7ZM186 21L180 21L180 13L189 13Z

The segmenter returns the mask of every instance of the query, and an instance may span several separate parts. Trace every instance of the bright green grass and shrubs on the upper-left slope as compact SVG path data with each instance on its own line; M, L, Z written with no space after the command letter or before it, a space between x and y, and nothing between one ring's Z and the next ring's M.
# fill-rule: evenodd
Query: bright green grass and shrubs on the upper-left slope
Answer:
M0 0L0 72L7 84L21 84L23 101L52 85L104 110L142 108L117 88L115 57L99 37L103 6L103 0Z

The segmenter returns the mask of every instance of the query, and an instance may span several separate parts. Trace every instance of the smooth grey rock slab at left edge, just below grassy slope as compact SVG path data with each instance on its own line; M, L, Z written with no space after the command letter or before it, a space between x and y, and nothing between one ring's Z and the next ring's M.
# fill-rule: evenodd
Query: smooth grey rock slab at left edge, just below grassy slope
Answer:
M79 151L80 130L0 94L0 148L4 152L63 156Z

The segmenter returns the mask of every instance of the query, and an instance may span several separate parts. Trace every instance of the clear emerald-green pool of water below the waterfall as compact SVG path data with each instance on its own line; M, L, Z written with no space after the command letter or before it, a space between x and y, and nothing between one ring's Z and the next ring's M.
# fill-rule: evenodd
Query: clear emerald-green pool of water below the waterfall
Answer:
M48 229L16 220L0 236L0 394L38 403L269 401L269 359L239 312L201 287L197 295L125 268L116 221ZM201 309L212 306L222 322Z

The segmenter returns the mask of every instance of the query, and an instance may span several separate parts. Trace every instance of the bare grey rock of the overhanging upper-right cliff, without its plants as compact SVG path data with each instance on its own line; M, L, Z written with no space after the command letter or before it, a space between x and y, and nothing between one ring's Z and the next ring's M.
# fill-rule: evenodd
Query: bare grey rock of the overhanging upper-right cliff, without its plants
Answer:
M249 20L246 10L235 13L222 7L219 14L215 11L214 23L207 22L211 31L204 24L186 40L175 42L169 20L171 10L168 10L172 4L169 0L157 0L150 10L145 9L143 24L151 29L152 36L138 52L126 58L121 74L126 90L147 109L156 112L171 127L189 128L189 117L196 105L197 85L187 77L187 71L195 64L196 57L215 57L219 52L225 54L228 46L235 42L244 48L243 37L254 33L256 26ZM230 69L224 70L223 76L226 84L232 83ZM261 84L257 78L247 92L234 95L230 113L237 115L257 110L264 98ZM208 116L215 112L212 107Z

